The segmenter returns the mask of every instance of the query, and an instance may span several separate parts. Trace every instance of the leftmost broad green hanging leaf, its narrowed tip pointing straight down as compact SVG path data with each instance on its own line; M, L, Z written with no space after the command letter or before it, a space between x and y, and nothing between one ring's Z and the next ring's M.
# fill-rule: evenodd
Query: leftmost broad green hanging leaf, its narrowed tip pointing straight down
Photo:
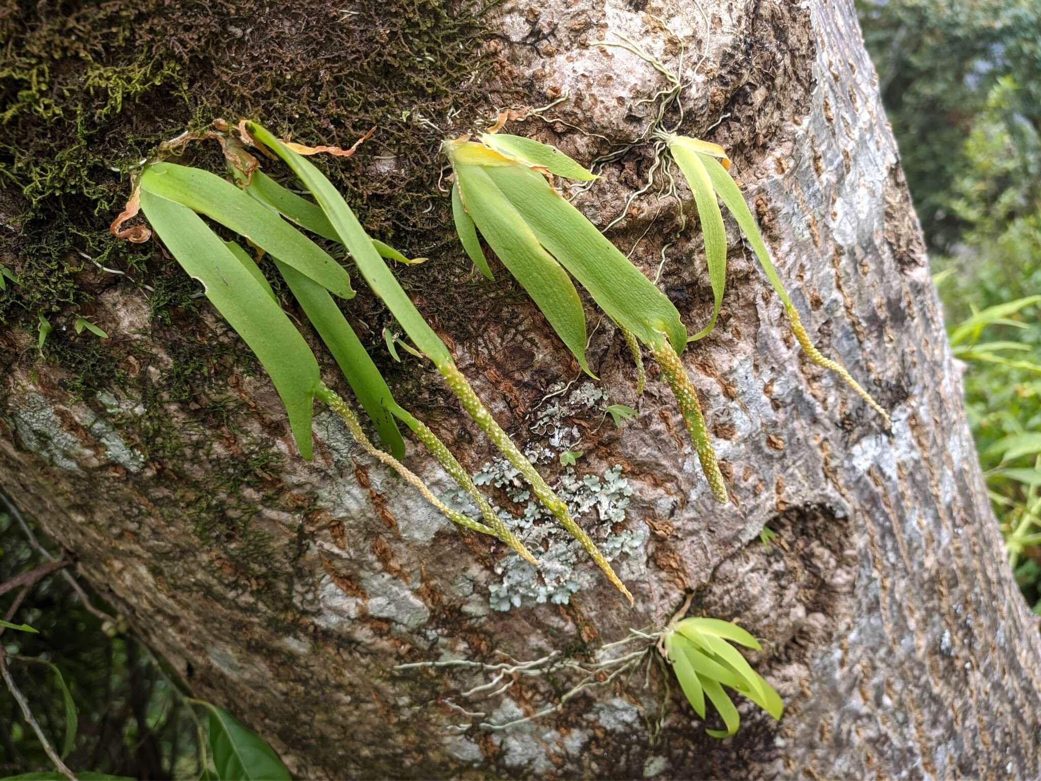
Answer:
M177 262L202 282L206 298L259 358L285 404L300 454L310 460L311 402L321 378L304 337L192 209L144 187L141 206Z

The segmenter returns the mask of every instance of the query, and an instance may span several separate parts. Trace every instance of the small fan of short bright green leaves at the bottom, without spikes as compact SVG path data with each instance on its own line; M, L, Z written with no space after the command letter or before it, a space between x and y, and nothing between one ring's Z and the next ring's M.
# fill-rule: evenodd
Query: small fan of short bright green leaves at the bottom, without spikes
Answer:
M713 737L729 737L741 725L737 708L723 689L733 689L752 700L777 720L784 703L773 687L732 646L755 651L762 647L736 624L719 619L684 619L667 629L662 641L687 702L705 719L705 699L719 712L726 730L706 730Z

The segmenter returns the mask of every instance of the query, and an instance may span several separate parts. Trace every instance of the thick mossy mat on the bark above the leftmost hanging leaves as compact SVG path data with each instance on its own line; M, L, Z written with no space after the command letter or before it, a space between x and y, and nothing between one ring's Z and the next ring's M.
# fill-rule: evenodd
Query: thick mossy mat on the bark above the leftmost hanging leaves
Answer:
M0 255L22 281L0 293L2 323L31 328L44 312L58 326L113 284L155 287L154 313L188 306L195 287L154 243L119 242L107 228L129 171L161 141L217 117L256 118L314 144L350 143L376 126L364 155L319 165L376 236L407 250L439 222L429 208L437 128L473 119L467 83L482 68L484 32L468 10L446 0L2 5ZM215 149L192 153L222 167ZM75 373L65 356L52 357Z

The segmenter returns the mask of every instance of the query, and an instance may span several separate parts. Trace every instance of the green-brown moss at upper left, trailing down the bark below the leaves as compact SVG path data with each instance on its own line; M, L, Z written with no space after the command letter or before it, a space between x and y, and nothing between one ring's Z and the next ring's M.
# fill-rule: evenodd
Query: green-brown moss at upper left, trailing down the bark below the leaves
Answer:
M435 258L403 270L402 281L455 317L465 303L458 280L468 270L456 262L461 253L445 229L438 150L443 136L490 110L467 92L484 67L476 55L483 28L467 7L361 0L348 12L315 0L303 7L74 0L58 14L0 0L7 42L0 53L0 209L12 228L0 233L0 254L22 282L0 292L0 324L31 331L46 313L55 331L44 357L75 396L95 403L105 391L134 400L135 411L109 414L126 442L174 477L158 511L191 524L200 546L215 554L219 578L279 613L291 604L307 535L301 527L294 539L273 539L254 522L256 495L274 506L289 492L271 477L277 470L265 469L278 456L243 430L254 412L229 384L234 374L260 370L237 342L213 338L200 320L199 286L155 241L121 242L108 226L126 202L131 171L163 141L215 118L256 118L298 141L340 145L376 126L354 158L314 161L374 235ZM215 144L192 145L184 155L223 169ZM100 292L113 287L147 300L149 332L113 332L106 341L73 334L73 320L97 310ZM510 295L508 287L491 291ZM391 382L397 378L405 396L427 397L417 363L396 364L382 348L390 322L382 304L361 292L346 310L363 324ZM471 325L460 318L452 327ZM203 452L195 450L207 440ZM178 569L163 566L173 587ZM193 579L184 580L189 587Z

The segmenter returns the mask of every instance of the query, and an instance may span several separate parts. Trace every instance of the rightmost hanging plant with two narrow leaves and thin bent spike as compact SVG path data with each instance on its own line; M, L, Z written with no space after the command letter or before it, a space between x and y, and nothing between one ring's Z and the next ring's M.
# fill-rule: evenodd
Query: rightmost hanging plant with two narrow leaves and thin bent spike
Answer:
M766 278L769 279L773 289L781 298L789 327L795 334L799 346L814 363L838 374L872 409L883 417L888 427L890 421L886 410L861 387L860 383L850 376L841 363L826 358L810 341L810 336L799 320L798 311L791 303L791 299L788 298L781 277L778 276L777 270L773 268L763 237L759 233L752 211L748 210L748 204L745 203L737 182L729 173L730 158L722 147L697 138L688 138L684 135L670 135L668 136L668 150L694 197L694 205L702 223L702 232L705 235L705 259L714 299L711 320L705 328L691 336L690 341L707 336L715 327L727 284L727 232L723 228L719 204L716 202L718 197L727 210L737 220L738 226L747 237L748 244L752 245L753 252L759 258Z

